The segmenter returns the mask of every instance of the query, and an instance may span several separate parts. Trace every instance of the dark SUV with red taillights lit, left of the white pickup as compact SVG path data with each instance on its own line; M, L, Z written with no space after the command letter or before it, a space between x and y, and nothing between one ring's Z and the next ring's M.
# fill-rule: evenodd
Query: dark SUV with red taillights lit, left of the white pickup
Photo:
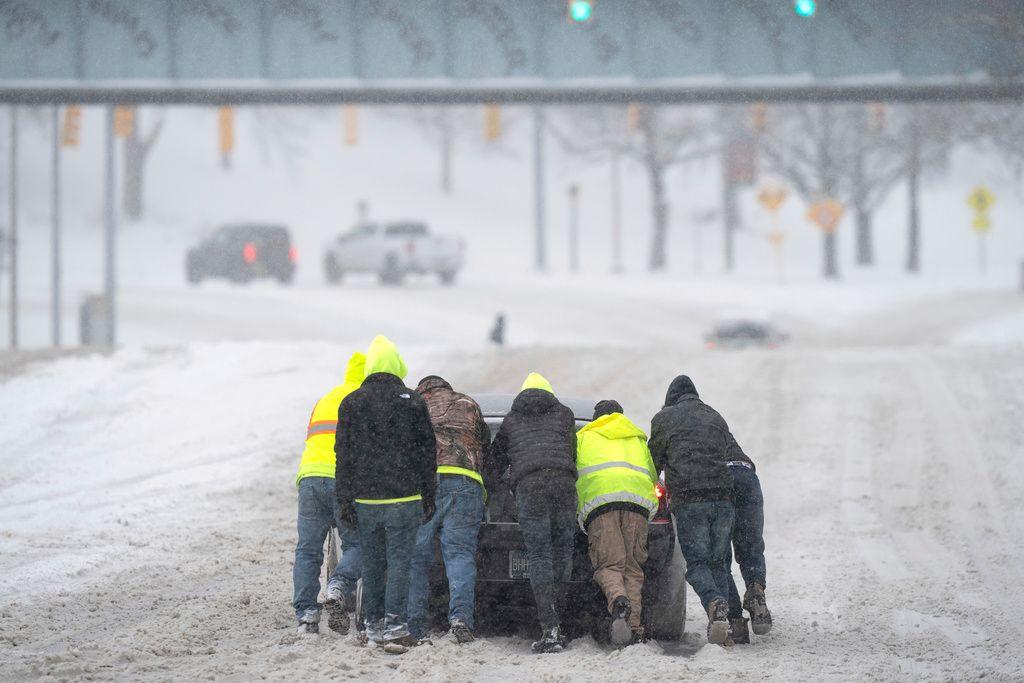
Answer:
M297 260L298 253L284 225L224 225L188 250L185 276L194 285L207 278L226 278L241 284L256 278L275 278L287 285L295 276Z

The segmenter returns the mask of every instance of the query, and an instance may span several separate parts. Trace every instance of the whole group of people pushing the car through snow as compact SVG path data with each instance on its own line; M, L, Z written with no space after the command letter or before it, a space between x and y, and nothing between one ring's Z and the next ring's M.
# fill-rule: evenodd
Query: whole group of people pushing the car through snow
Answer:
M750 628L769 632L757 469L689 377L670 384L648 439L611 399L597 402L593 419L577 430L572 411L530 373L492 439L473 398L436 375L410 388L407 374L395 345L378 336L366 353L352 354L344 381L310 415L296 477L293 605L301 633L318 632L324 542L337 527L342 553L323 605L333 631L348 633L361 579L360 643L399 653L429 642L428 577L439 541L450 634L459 643L474 640L486 492L507 485L541 627L532 649L566 646L565 587L580 528L607 600L611 642L641 642L647 524L663 471L686 581L708 614L708 641L749 643Z

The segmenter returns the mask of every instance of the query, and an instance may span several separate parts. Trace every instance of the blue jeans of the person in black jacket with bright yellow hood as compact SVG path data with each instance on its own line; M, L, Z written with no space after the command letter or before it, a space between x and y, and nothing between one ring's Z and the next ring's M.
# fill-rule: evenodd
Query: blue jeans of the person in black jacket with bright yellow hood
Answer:
M422 501L356 503L362 547L362 613L367 625L384 622L386 631L408 628L409 570Z

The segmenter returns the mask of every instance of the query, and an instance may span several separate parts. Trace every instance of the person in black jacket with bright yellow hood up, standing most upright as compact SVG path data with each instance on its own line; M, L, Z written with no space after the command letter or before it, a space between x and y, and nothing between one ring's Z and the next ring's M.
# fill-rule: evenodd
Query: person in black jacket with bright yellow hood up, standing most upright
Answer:
M338 414L338 509L362 548L364 639L398 652L415 643L409 571L417 529L434 513L437 444L427 405L402 383L406 362L386 337L370 344L366 372Z

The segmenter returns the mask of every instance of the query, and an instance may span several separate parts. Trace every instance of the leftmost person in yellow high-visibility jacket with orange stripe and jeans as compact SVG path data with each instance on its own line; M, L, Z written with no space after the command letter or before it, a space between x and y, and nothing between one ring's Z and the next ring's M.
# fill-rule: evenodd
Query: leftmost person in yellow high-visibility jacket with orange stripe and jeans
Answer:
M348 612L354 606L355 583L359 580L359 536L349 525L339 523L335 496L335 430L342 399L362 384L366 355L355 352L345 368L345 381L331 389L313 407L306 427L306 447L302 452L295 485L299 489L299 542L295 546L293 606L301 633L319 630L319 572L324 565L324 540L332 526L341 536L341 560L331 567L327 584L328 626L348 633Z

